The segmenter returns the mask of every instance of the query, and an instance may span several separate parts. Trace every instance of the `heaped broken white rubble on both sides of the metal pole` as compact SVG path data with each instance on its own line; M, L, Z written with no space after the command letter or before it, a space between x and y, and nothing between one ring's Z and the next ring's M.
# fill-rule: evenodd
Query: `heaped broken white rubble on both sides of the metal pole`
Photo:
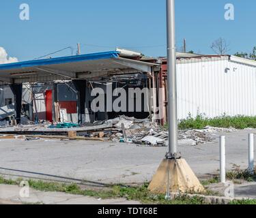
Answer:
M164 131L156 123L151 123L149 119L134 119L133 117L119 116L116 119L105 121L112 123L115 131L112 132L109 140L113 142L128 142L145 146L167 146L168 131ZM232 132L237 129L210 127L204 129L181 130L178 133L178 142L196 146L211 142L211 134L218 132Z

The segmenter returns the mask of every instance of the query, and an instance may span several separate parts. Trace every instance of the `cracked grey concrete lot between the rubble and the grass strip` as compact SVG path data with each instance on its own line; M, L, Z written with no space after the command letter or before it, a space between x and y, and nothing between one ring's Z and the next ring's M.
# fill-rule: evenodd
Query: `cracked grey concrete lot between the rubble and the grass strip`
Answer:
M248 133L240 130L212 134L213 142L179 150L197 176L218 174L218 137L225 135L227 168L247 167ZM102 183L150 181L165 157L167 147L136 144L61 140L0 140L0 174L44 178L100 186Z

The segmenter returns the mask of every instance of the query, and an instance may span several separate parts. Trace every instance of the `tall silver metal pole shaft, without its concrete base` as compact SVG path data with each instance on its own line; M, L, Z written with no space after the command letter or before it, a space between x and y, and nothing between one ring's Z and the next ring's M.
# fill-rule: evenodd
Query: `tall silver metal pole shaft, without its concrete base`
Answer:
M167 76L169 153L167 158L177 157L177 84L175 49L175 0L167 0Z

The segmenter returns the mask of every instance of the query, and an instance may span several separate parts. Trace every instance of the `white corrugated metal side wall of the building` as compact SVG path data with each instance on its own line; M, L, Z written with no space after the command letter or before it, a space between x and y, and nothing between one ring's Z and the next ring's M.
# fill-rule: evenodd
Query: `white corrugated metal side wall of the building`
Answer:
M178 118L198 113L208 117L255 116L255 82L256 67L229 61L228 57L179 60Z

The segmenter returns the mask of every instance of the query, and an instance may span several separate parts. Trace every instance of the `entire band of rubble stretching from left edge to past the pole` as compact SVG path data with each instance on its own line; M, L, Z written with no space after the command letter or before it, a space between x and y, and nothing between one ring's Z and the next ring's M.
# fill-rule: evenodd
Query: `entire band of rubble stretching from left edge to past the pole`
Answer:
M23 119L23 121L26 123L27 120ZM178 132L178 142L195 146L211 142L211 135L214 133L236 130L233 127L218 128L210 126L204 129L180 130ZM74 123L53 124L48 121L40 121L40 123L29 125L2 125L0 126L0 134L25 135L27 140L38 139L33 137L48 137L62 140L68 138L72 138L72 140L89 140L91 138L91 140L98 139L102 141L102 138L107 138L113 142L134 143L138 146L168 145L168 131L165 131L157 123L152 123L150 119L135 119L124 115L106 121L96 121L93 124L84 123L81 126Z

